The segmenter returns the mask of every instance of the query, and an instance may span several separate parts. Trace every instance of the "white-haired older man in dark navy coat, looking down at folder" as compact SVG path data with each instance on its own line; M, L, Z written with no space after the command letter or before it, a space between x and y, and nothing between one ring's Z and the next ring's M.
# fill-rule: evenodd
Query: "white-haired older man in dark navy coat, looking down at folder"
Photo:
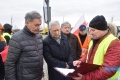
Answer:
M60 33L60 25L57 21L50 23L49 30L49 35L43 41L43 55L48 64L49 80L71 80L56 71L54 67L72 67L72 48L67 37Z

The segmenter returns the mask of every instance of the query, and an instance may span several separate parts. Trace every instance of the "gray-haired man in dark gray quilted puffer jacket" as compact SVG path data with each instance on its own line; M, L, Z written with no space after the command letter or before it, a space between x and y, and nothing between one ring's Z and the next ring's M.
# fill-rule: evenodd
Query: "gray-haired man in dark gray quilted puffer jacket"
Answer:
M41 80L43 73L43 43L38 34L41 15L28 12L25 27L10 40L5 64L5 80Z

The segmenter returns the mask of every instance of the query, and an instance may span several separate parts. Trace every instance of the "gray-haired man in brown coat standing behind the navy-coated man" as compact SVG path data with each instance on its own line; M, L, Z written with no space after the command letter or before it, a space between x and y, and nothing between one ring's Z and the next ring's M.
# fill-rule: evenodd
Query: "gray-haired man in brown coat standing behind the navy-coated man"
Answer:
M81 46L77 37L74 34L70 33L70 31L71 24L69 22L64 22L61 24L61 32L67 36L68 41L73 49L73 60L78 60L82 52Z

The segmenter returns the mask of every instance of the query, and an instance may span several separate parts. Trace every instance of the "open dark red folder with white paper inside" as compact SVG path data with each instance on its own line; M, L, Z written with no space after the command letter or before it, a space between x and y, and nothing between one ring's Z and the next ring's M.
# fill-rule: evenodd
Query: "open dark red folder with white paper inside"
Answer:
M78 67L75 70L74 69L66 69L66 68L55 68L55 69L65 76L75 78L75 77L78 77L78 73L84 75L88 72L98 69L99 67L100 67L100 65L81 62L80 67Z

